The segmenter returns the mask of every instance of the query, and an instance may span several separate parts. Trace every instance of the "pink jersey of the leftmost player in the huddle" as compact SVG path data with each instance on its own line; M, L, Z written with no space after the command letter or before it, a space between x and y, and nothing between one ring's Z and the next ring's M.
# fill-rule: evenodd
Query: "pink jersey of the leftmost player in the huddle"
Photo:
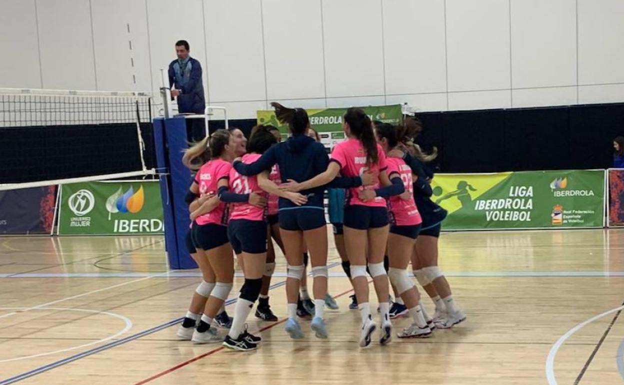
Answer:
M232 163L223 159L213 159L204 163L195 175L195 183L199 185L200 197L209 193L217 194L219 180L229 178L231 169ZM207 225L208 223L225 225L227 223L225 203L221 202L212 212L200 215L195 222L198 225Z

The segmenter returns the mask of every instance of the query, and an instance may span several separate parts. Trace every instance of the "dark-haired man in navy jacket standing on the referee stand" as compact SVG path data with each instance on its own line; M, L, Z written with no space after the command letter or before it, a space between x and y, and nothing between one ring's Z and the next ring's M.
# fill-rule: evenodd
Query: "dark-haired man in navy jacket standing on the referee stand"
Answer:
M169 64L169 87L171 96L178 98L180 114L203 114L206 102L203 95L202 66L196 59L189 56L188 42L180 40L175 43L178 59ZM189 139L203 139L205 126L203 119L187 119Z

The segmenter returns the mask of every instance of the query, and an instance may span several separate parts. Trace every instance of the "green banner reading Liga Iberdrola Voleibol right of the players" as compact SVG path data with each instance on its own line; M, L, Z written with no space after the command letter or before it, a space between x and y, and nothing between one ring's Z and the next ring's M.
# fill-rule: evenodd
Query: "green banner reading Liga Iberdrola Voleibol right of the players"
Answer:
M437 174L445 230L603 227L604 170Z

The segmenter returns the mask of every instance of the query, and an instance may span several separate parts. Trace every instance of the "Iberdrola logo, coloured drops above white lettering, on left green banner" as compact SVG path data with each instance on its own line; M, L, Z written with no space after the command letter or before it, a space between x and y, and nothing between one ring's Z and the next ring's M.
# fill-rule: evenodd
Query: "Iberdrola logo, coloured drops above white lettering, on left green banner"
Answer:
M130 188L124 193L123 187L106 200L106 210L109 220L112 214L137 214L145 205L145 191L143 185L136 192ZM115 233L158 233L163 230L162 220L158 218L124 219L115 218L113 231Z

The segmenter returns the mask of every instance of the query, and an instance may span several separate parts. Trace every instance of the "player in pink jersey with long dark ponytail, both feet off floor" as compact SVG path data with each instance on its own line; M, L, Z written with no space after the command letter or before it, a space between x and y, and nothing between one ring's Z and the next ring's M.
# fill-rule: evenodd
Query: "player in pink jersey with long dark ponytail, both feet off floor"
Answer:
M336 178L338 173L345 177L357 177L368 171L378 178L373 187L349 188L348 204L344 208L344 243L351 263L349 270L362 318L359 346L368 346L371 343L371 334L376 329L368 302L367 260L379 300L381 314L379 342L387 344L392 339L392 324L388 314L388 276L384 269L384 251L388 241L388 210L383 197L399 195L405 188L399 178L392 182L389 180L386 173L386 156L376 142L373 124L363 110L348 109L344 114L343 129L349 139L334 147L327 170L311 180L293 185L293 189L299 191L326 185ZM384 188L379 188L379 182ZM361 199L359 194L371 188L379 189L379 196L372 200Z

